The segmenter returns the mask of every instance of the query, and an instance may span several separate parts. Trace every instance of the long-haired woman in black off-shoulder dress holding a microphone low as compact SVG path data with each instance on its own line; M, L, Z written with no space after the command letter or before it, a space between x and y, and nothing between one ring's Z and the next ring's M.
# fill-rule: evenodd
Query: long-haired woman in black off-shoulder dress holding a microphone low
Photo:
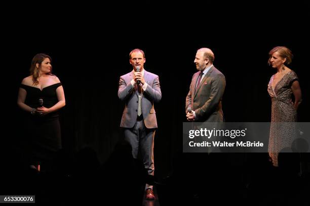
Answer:
M61 148L58 110L65 106L63 87L52 74L48 55L33 57L30 76L24 78L20 85L17 104L24 111L27 164L38 171L46 171Z

